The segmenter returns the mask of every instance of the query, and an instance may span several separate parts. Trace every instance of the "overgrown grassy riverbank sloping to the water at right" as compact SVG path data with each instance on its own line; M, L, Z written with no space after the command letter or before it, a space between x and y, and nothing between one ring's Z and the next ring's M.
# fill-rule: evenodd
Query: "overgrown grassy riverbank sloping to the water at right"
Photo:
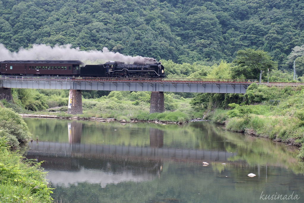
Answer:
M266 87L253 84L245 94L245 102L229 104L230 110L209 111L207 118L225 125L227 130L269 138L287 145L304 142L303 87ZM298 155L304 158L304 148Z

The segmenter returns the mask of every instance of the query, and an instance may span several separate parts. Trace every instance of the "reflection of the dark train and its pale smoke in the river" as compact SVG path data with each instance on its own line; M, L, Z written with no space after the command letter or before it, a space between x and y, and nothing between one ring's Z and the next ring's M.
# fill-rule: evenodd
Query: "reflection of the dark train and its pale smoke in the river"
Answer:
M161 163L155 161L133 162L130 160L85 159L55 156L27 155L28 159L43 161L48 171L47 179L53 186L71 187L79 183L107 184L147 181L159 177Z

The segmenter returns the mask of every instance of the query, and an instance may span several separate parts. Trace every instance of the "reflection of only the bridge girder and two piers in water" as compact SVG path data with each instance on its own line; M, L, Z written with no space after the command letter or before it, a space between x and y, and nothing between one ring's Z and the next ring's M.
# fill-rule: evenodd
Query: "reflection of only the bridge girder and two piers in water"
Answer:
M149 147L81 144L81 128L81 123L71 122L68 124L69 143L29 142L30 150L27 153L43 156L184 163L223 162L234 155L226 151L163 148L164 132L155 128L150 128Z

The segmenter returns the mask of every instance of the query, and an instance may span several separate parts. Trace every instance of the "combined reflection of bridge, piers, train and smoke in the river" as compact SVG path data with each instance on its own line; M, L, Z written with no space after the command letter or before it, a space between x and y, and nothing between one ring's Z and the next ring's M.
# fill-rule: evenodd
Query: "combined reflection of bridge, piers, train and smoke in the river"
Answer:
M69 143L29 142L28 159L44 161L53 186L81 182L117 184L159 178L163 163L202 165L226 162L234 154L225 151L164 148L164 131L150 128L150 146L81 144L82 123L68 123Z

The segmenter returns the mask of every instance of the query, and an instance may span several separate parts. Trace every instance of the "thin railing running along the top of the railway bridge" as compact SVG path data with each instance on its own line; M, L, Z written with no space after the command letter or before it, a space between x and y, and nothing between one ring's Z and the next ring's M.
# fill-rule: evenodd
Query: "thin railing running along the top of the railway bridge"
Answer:
M256 79L190 79L190 78L107 78L107 77L45 77L6 76L0 80L73 81L73 82L171 82L171 83L253 83Z

